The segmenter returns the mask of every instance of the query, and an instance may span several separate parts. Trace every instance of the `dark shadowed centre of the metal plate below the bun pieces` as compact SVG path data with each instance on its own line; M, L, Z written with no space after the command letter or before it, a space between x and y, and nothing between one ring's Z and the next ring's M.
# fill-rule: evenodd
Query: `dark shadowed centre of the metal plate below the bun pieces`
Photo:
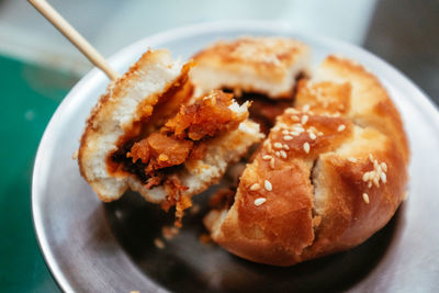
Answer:
M212 192L212 189L210 190ZM207 194L194 202L202 205ZM145 202L134 192L104 204L108 222L133 262L162 289L173 292L339 292L367 278L380 262L394 237L404 213L368 241L346 252L307 261L290 268L254 263L235 257L214 244L203 244L201 219L207 212L183 218L183 228L159 249L154 239L162 238L161 227L172 225L173 213Z

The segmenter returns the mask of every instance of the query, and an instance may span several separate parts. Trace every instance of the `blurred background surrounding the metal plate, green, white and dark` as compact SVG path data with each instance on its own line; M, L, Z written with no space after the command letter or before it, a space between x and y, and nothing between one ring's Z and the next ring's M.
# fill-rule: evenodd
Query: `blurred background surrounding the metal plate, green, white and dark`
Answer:
M439 103L438 0L52 0L104 56L154 33L264 20L362 46ZM38 250L31 176L52 114L92 66L25 0L0 0L0 292L58 292Z

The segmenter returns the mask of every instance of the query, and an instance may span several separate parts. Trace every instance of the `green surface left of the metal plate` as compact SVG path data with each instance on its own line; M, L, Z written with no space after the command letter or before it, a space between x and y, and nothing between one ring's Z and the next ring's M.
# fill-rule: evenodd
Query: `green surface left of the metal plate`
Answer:
M59 292L31 213L36 148L76 78L0 56L0 292Z

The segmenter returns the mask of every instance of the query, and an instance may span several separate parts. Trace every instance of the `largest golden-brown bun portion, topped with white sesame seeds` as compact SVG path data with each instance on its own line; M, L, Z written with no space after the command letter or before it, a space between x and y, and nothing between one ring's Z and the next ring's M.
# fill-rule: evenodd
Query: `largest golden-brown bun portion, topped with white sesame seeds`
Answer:
M244 171L230 210L204 218L214 241L251 261L291 266L352 248L404 198L407 139L373 75L330 56L301 81L295 104Z

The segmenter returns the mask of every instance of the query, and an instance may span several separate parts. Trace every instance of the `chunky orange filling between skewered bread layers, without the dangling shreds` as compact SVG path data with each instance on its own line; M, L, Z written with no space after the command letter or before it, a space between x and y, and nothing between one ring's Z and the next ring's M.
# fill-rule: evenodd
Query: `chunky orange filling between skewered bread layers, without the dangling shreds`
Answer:
M191 105L182 105L180 112L170 119L159 132L135 143L126 157L133 164L142 162L144 172L153 177L157 170L182 165L189 157L202 159L205 140L237 127L245 117L229 109L233 95L222 91L198 100ZM148 180L148 187L160 184L160 180Z

